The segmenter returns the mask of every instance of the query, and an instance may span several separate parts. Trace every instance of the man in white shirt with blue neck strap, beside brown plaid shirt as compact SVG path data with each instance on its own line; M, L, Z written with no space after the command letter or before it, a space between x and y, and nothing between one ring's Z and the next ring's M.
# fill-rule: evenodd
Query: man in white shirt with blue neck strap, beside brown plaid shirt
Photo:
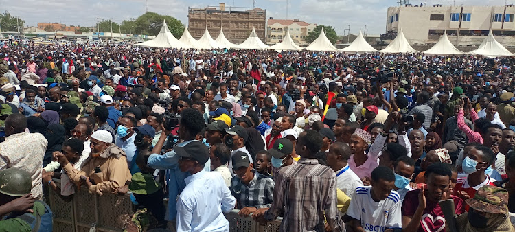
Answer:
M351 154L352 151L347 144L336 142L329 147L327 160L329 167L336 172L336 187L352 199L356 188L363 186L363 182L347 164Z

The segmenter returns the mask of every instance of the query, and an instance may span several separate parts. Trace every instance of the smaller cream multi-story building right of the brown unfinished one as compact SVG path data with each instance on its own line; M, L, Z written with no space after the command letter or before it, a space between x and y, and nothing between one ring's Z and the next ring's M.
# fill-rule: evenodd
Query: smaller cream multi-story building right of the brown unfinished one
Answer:
M306 36L308 33L314 30L317 24L306 23L299 21L299 19L268 19L268 26L266 27L266 44L275 45L281 43L284 36L286 36L286 30L290 30L290 36L293 42L299 46L307 46Z

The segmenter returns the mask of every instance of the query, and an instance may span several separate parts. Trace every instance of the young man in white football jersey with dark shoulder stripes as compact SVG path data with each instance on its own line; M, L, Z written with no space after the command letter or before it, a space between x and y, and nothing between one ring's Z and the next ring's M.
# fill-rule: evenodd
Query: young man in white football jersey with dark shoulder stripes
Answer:
M402 228L400 196L393 191L395 175L389 167L372 171L371 186L358 187L347 215L354 231L385 231Z

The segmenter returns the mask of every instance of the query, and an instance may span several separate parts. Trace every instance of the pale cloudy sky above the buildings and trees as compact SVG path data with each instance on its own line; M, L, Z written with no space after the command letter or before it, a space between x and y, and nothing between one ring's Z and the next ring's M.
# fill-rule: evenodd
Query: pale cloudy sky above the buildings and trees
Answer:
M255 0L256 7L266 10L266 17L286 19L286 0ZM357 34L367 25L368 34L385 32L387 8L397 0L288 0L288 19L308 23L331 25L343 35L350 25L352 34ZM187 8L204 8L218 5L222 0L148 0L148 10L168 14L187 25ZM426 2L428 5L504 5L505 0L411 0L412 4ZM228 0L226 6L252 7L252 0ZM515 4L515 0L508 0ZM38 22L61 22L67 25L91 26L98 18L121 22L137 18L145 11L145 0L0 0L1 11L8 10L14 16L25 19L27 25ZM347 32L345 32L347 34Z

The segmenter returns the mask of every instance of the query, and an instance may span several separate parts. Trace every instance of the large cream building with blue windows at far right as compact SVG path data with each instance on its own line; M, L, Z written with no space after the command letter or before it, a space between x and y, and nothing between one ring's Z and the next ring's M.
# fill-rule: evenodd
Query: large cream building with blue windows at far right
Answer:
M382 40L395 38L402 28L411 45L437 43L447 31L454 45L476 46L492 30L496 40L515 46L515 5L505 6L397 6L388 8L386 33Z

